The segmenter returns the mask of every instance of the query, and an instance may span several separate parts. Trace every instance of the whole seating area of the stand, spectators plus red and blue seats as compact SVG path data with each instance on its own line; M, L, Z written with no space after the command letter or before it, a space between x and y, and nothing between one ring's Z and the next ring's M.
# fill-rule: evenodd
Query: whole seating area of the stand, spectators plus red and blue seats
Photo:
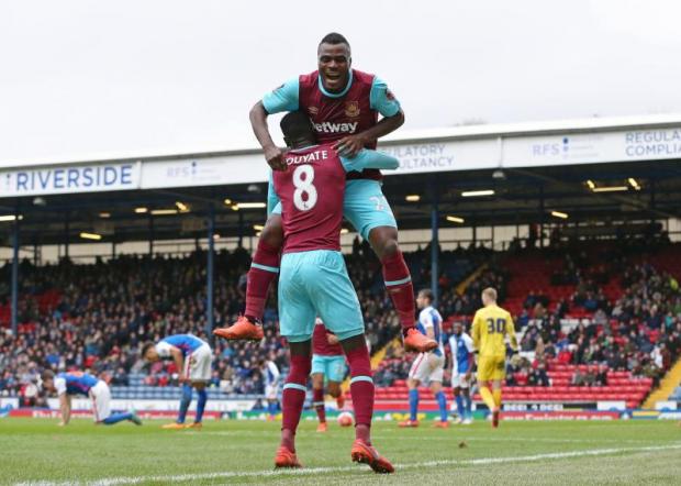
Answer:
M429 281L429 251L408 254L416 288ZM496 253L473 246L440 253L439 308L446 329L456 320L470 322L487 286L496 287L503 306L516 316L526 360L509 368L509 401L623 400L635 407L679 356L678 244L647 245L645 252L640 242L632 241L546 250L512 245ZM51 366L91 369L110 382L115 398L177 398L172 364L155 364L147 373L137 349L146 340L176 332L205 338L204 275L199 270L203 258L197 252L182 257L120 256L93 265L34 267L23 262L21 332L0 340L0 394L21 396L41 367ZM347 263L370 343L378 350L400 329L378 262L368 245L356 242ZM248 264L244 250L216 256L219 324L242 309ZM465 291L456 292L456 284L482 264L484 269ZM8 307L7 300L0 306L3 325ZM286 371L275 309L266 311L266 340L259 345L215 342L213 398L260 394L257 363L265 356ZM406 400L409 360L394 345L386 356L376 376L381 386L377 398L380 408L390 409ZM422 394L427 408L432 397L426 389Z

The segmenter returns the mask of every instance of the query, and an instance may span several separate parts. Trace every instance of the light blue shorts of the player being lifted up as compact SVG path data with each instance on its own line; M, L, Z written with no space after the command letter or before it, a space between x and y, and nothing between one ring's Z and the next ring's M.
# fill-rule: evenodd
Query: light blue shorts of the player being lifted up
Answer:
M281 202L275 202L276 200L270 201L268 199L268 217L281 214ZM345 186L343 216L365 240L369 239L369 233L375 228L398 228L390 203L383 196L381 184L378 180L348 180Z

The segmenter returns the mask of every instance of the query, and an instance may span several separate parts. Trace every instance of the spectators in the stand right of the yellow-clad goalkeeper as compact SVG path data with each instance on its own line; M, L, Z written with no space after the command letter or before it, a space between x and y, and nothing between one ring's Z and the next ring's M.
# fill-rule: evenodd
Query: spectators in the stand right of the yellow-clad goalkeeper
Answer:
M534 352L535 360L511 368L511 374L532 376L547 360L556 360L590 365L585 372L576 372L571 382L576 386L607 385L607 369L628 371L657 384L681 353L681 294L672 275L637 256L646 250L650 248L633 245L612 251L610 259L603 259L606 264L600 266L593 266L584 252L579 259L566 254L559 283L577 285L572 303L592 312L591 323L565 329L560 305L550 314L535 316L521 341L521 349ZM614 301L606 299L601 288L611 278L617 278L622 288ZM528 296L528 300L531 297L536 298Z

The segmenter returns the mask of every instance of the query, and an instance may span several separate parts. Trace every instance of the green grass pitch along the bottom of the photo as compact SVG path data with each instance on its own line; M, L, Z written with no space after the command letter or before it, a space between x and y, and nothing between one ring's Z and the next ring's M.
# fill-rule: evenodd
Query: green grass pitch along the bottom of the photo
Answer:
M278 422L206 422L202 431L146 421L96 427L75 420L0 419L1 484L680 484L681 427L672 421L487 422L398 429L378 422L373 442L397 472L353 464L353 429L303 421L301 471L275 472Z

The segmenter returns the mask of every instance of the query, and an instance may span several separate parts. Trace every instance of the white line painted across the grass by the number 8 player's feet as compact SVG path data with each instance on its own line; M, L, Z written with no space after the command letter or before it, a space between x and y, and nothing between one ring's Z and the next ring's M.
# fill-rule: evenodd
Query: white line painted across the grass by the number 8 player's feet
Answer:
M507 464L507 463L523 463L523 462L537 462L544 460L558 460L558 459L573 459L598 455L611 455L622 453L638 453L638 452L659 452L659 451L673 451L681 450L681 443L669 445L657 445L647 448L612 448L612 449L592 449L585 451L572 451L572 452L554 452L546 454L534 455L518 455L509 457L481 457L471 460L439 460L439 461L425 461L421 463L409 464L395 464L395 470L414 470L418 467L435 467L435 466L456 466L456 465L488 465L488 464ZM244 471L244 472L224 472L224 473L204 473L204 474L181 474L175 476L137 476L137 477L109 477L104 479L97 479L91 482L24 482L16 483L16 486L118 486L127 484L139 484L145 482L154 483L182 483L190 481L201 479L228 479L228 478L245 478L245 477L271 477L271 476L310 476L314 474L324 473L347 473L358 471L357 466L336 466L336 467L310 467L302 470L281 470L281 471Z

